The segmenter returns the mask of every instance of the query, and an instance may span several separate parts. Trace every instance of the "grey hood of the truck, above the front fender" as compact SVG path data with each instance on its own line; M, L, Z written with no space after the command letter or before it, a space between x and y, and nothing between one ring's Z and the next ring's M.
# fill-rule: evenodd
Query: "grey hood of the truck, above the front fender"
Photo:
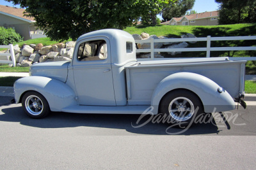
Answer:
M31 76L44 76L52 79L67 81L68 65L70 61L44 62L33 64L30 67L29 74Z

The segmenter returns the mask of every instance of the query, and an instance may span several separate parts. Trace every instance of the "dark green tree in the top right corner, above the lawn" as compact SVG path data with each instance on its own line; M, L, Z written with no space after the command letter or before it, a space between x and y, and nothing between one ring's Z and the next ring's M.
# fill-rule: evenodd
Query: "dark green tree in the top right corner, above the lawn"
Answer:
M220 3L219 24L256 22L256 1L215 0Z

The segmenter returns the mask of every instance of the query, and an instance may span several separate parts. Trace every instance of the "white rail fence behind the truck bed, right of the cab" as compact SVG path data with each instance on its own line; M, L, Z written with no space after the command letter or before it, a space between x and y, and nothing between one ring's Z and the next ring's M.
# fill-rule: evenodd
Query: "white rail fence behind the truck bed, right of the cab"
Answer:
M210 52L216 51L241 51L256 50L256 46L234 46L234 47L211 47L211 41L235 41L235 40L256 40L256 36L230 36L230 37L211 37L206 38L171 38L171 39L141 39L135 40L135 43L150 43L150 49L136 49L136 53L151 53L150 60L163 60L170 58L154 58L154 52L206 52L205 57L211 57ZM200 48L154 48L154 43L167 42L189 42L189 41L207 41L206 47ZM227 56L228 57L228 56ZM230 57L232 60L256 60L256 57ZM138 59L148 60L148 59Z

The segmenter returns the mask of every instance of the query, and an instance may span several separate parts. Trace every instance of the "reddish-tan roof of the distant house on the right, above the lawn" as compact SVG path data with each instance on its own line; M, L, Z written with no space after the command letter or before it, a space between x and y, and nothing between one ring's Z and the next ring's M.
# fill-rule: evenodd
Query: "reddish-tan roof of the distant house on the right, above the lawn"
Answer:
M179 18L173 17L172 20L175 20L175 22L180 22L184 17L187 18L188 20L198 20L202 18L209 18L209 17L218 17L219 12L218 11L211 11L211 12L203 12L203 13L195 13L191 15L184 15ZM168 23L171 22L172 20L167 21Z

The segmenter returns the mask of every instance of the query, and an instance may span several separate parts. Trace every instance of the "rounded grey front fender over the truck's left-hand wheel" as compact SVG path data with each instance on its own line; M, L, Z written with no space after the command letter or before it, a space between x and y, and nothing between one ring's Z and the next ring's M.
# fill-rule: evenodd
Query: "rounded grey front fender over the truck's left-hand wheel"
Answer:
M36 91L48 101L51 111L77 104L75 92L65 83L43 76L28 76L14 83L15 101L19 103L25 92Z

